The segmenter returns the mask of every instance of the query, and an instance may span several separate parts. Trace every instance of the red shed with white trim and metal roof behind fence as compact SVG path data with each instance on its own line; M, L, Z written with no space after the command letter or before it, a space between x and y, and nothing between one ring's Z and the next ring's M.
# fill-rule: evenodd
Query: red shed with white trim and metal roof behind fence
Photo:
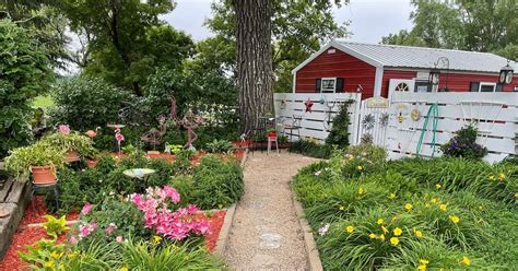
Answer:
M488 52L335 39L292 71L293 92L362 92L362 98L387 97L391 91L518 92L518 76L510 84L497 83L506 64L507 59ZM428 84L434 68L437 86Z

